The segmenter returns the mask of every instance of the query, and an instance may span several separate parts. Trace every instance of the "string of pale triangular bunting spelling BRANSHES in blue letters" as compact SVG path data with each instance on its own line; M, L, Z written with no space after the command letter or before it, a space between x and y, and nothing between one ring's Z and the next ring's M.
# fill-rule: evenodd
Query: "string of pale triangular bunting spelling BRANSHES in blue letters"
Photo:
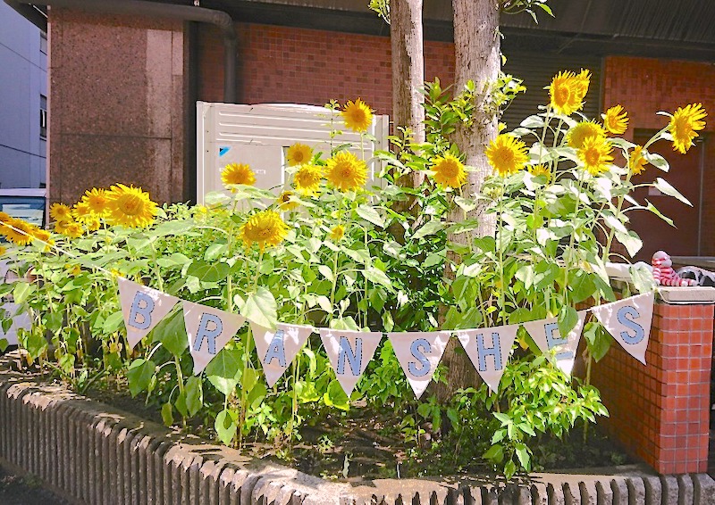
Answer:
M131 348L156 327L177 303L182 303L195 375L206 368L209 361L246 322L238 314L187 302L124 277L119 277L119 294L127 341ZM519 326L526 329L555 366L570 376L586 312L589 310L626 352L645 364L653 302L654 293L651 292L581 310L577 312L576 326L566 336L559 335L557 319L552 318L501 327L388 333L387 337L417 398L425 392L432 380L452 335L457 336L484 382L496 392ZM269 386L273 386L282 377L308 336L315 332L320 335L335 375L348 396L383 339L382 332L283 323L278 323L275 328L266 328L252 321L249 324Z

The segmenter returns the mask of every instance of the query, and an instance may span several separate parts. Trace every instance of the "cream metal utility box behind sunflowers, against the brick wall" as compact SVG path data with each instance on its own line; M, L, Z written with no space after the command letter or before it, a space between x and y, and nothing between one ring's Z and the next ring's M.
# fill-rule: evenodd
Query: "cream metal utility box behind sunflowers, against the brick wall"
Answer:
M331 131L342 134L331 138ZM331 147L350 144L350 151L365 156L369 170L367 185L374 184L378 161L370 161L375 150L387 149L388 116L375 115L367 133L377 141L360 147L359 134L345 128L340 112L313 105L267 103L197 102L197 202L206 193L223 190L221 170L229 163L248 163L256 173L256 186L281 189L286 183L286 151L296 142L309 145L324 158Z

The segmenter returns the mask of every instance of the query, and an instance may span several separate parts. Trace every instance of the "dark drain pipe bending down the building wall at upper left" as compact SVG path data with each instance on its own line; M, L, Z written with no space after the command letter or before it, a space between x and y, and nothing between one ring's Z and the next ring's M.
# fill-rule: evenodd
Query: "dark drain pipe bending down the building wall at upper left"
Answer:
M36 25L38 25L38 11L33 5L49 5L50 7L103 14L140 14L156 18L198 21L217 26L223 34L223 101L225 103L236 103L238 39L236 29L233 26L233 19L226 12L193 5L160 4L144 0L113 0L112 2L97 2L97 0L4 0L4 3L13 7L15 11L20 12L22 16Z

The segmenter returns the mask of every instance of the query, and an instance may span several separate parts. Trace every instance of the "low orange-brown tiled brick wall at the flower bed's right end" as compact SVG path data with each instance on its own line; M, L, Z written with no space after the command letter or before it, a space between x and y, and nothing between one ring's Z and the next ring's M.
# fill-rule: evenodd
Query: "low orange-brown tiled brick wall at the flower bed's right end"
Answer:
M704 293L704 299L711 299L710 292ZM712 337L711 302L659 300L645 355L648 364L614 343L593 369L593 384L610 411L602 424L661 474L707 470Z

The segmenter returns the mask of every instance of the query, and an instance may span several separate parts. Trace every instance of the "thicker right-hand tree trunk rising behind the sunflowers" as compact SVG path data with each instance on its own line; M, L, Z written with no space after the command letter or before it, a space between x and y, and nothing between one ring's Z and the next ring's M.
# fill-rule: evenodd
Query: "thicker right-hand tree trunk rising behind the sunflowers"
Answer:
M486 148L498 133L496 114L487 112L490 100L489 88L498 79L501 69L499 30L499 3L497 0L452 0L454 11L455 87L454 93L464 89L468 80L475 82L475 113L471 127L461 126L454 134L454 142L459 151L466 154L465 164L475 171L469 172L467 184L463 186L465 196L474 195L482 189L484 178L492 169L486 158ZM480 219L477 236L494 236L496 221L492 215L484 216L484 206L469 213L469 218ZM460 209L450 215L450 222L464 219ZM466 243L470 234L450 236L450 242ZM453 255L450 259L457 260ZM449 269L445 275L451 277ZM439 385L437 397L443 402L458 388L478 385L481 381L474 365L465 352L457 352L456 338L450 339L444 352L448 385ZM459 350L461 351L461 349Z

